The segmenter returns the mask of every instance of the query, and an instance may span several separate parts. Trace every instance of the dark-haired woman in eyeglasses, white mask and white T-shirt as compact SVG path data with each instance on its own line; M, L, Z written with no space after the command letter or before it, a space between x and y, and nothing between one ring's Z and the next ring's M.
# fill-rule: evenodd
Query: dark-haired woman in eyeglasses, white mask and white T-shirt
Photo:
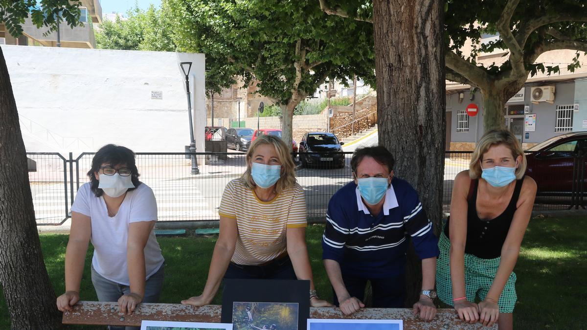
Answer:
M117 301L120 311L132 314L141 302L157 302L163 285L164 260L154 232L157 202L153 190L139 181L134 153L126 147L100 148L87 176L90 182L79 188L71 208L66 292L57 298L57 307L71 311L79 301L91 241L99 301Z

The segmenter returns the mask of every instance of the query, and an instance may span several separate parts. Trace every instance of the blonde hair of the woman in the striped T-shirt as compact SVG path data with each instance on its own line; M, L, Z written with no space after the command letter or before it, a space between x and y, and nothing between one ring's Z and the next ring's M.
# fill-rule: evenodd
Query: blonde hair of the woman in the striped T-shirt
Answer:
M296 183L294 169L295 164L294 160L292 160L291 154L289 153L290 148L288 148L285 145L285 142L279 139L279 137L266 134L257 137L257 139L251 143L251 146L247 151L247 156L245 157L245 160L247 161L247 170L245 170L245 173L243 173L241 176L241 180L245 187L249 189L254 189L257 187L251 175L251 163L255 149L257 149L257 147L261 144L270 144L274 146L279 163L281 163L281 177L279 177L279 180L277 180L277 183L275 183L276 193L279 194L282 191L293 188Z

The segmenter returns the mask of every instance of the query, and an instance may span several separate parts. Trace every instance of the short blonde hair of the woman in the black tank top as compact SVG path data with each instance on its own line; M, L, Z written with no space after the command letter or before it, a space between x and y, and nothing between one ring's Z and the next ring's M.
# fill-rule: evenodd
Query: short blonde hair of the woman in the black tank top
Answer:
M469 176L471 179L478 179L481 177L483 170L481 170L480 160L492 146L499 146L500 144L510 148L512 156L514 157L514 161L518 158L518 156L522 156L522 161L515 170L516 179L522 179L524 173L526 173L526 155L524 154L524 150L522 150L522 146L514 134L512 134L509 130L504 129L490 130L489 132L483 134L481 140L477 142L477 146L475 146L473 156L471 157L471 163L469 164Z

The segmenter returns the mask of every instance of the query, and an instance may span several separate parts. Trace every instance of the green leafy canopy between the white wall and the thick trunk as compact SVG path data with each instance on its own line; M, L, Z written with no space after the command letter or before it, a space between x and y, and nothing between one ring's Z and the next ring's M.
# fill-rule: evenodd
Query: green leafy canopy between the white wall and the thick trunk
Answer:
M259 93L285 105L299 103L328 77L346 82L356 73L374 83L373 27L328 16L314 0L165 3L178 48L206 54L208 75L221 82L214 92L238 75L245 83L259 80Z

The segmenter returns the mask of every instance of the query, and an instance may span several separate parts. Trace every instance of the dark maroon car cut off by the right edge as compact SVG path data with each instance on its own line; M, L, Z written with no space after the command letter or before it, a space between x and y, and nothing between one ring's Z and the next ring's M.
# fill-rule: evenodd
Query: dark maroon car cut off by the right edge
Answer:
M527 150L531 153L526 155L526 174L536 181L537 196L571 196L574 157L579 150L587 153L587 132L555 136ZM587 184L587 173L584 177Z

